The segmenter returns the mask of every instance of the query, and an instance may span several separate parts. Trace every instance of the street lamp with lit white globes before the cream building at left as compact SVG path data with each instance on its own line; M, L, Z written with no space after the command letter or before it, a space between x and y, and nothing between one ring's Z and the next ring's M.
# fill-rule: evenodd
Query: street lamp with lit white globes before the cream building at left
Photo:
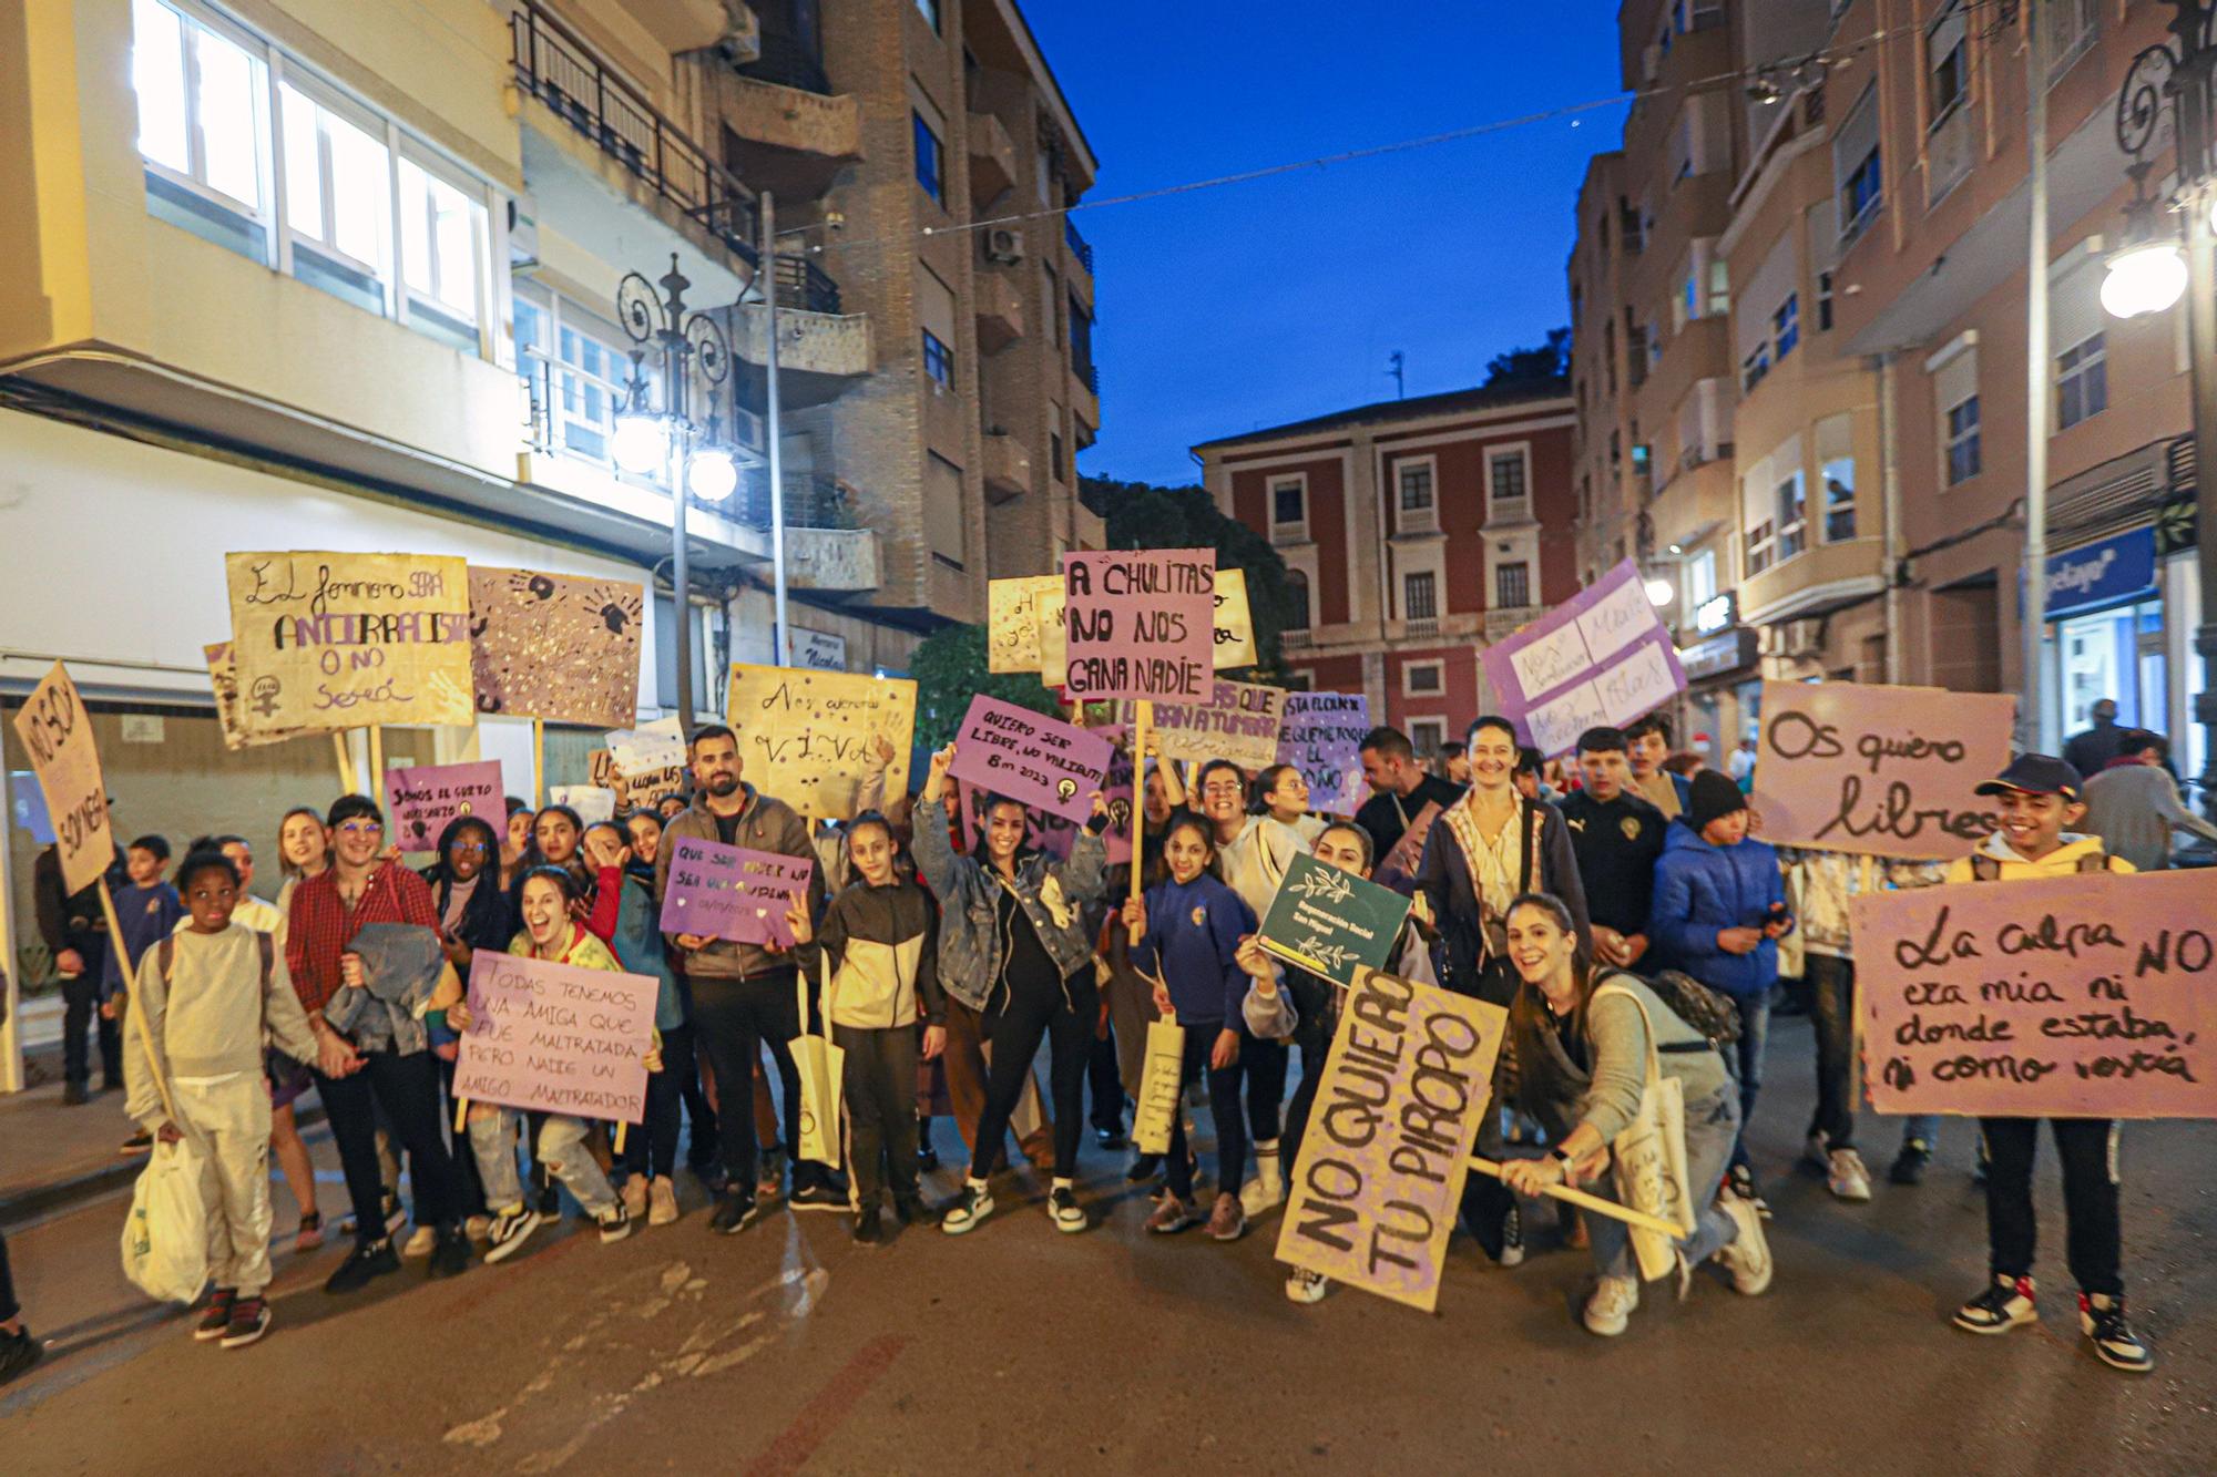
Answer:
M661 295L654 288L661 286ZM723 444L723 421L714 412L716 388L732 377L732 346L707 313L687 313L685 288L692 279L678 271L670 253L670 271L661 284L638 273L625 273L616 284L616 322L632 344L632 375L616 410L616 435L610 457L634 477L661 472L670 483L670 588L676 619L678 723L692 725L698 707L692 690L692 570L685 552L685 503L694 497L721 503L738 488L738 464ZM654 406L654 386L645 375L650 346L661 353L663 404ZM709 404L705 424L687 417L694 381Z

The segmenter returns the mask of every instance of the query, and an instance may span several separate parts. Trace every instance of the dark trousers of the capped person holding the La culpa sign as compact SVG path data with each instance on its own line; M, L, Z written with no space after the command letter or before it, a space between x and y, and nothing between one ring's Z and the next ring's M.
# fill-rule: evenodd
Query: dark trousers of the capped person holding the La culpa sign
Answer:
M2084 1293L2124 1297L2124 1233L2117 1226L2117 1124L2111 1118L2051 1118L2064 1160L2064 1231L2071 1277ZM2037 1118L1980 1118L1986 1135L1986 1242L1995 1277L2033 1275L2033 1155Z

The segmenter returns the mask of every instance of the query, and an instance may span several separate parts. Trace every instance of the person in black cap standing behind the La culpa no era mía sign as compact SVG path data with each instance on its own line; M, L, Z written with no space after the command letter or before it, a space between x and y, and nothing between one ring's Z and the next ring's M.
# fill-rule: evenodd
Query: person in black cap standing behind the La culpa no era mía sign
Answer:
M2133 872L2097 836L2071 827L2086 814L2080 774L2051 754L2020 754L1978 787L2000 801L2002 825L1971 856L1949 865L1949 883L2022 883L2086 872ZM2095 1355L2146 1373L2155 1355L2124 1315L2124 1237L2117 1218L2117 1122L2051 1118L2064 1162L2064 1226L2071 1275L2080 1284L2080 1331ZM2037 1118L1980 1118L1986 1140L1986 1291L1955 1311L1969 1333L2009 1333L2040 1320L2033 1293L2033 1155Z

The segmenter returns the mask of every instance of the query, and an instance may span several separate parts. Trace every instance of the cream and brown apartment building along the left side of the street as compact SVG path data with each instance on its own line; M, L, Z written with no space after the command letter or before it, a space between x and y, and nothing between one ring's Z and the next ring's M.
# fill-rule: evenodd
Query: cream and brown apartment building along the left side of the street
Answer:
M1091 251L1053 213L964 228L1093 169L1013 0L0 7L0 710L69 659L126 832L219 796L270 852L335 776L324 743L222 747L202 643L248 548L643 583L641 716L676 707L678 619L721 710L772 652L767 293L796 661L900 670L989 574L1100 541ZM689 501L683 592L670 477L612 459L619 284L672 262L734 350L687 410L743 461ZM552 730L548 778L596 743ZM384 752L530 787L523 723ZM33 849L11 825L22 920Z

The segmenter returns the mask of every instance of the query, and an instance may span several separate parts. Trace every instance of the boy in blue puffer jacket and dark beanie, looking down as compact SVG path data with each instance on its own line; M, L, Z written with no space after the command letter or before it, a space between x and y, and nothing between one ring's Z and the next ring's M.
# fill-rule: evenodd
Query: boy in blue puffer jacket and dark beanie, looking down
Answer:
M1652 965L1683 969L1740 1007L1740 1142L1731 1147L1729 1182L1767 1215L1747 1162L1747 1116L1763 1087L1778 940L1794 931L1794 918L1778 852L1747 838L1747 796L1731 776L1694 776L1687 809L1663 841L1649 907Z

